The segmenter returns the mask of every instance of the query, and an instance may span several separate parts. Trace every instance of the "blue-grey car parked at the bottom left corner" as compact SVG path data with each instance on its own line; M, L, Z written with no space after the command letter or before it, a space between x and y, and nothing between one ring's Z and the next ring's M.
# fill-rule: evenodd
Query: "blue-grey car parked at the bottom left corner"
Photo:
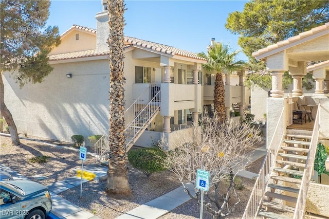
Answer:
M52 208L49 190L30 180L0 181L0 218L45 219Z

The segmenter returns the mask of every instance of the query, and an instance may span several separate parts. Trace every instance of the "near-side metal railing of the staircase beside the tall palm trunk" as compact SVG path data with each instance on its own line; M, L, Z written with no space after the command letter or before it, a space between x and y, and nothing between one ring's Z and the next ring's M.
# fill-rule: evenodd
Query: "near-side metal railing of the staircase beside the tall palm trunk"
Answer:
M160 109L160 90L153 96L125 129L126 150L129 151L139 136L145 131Z

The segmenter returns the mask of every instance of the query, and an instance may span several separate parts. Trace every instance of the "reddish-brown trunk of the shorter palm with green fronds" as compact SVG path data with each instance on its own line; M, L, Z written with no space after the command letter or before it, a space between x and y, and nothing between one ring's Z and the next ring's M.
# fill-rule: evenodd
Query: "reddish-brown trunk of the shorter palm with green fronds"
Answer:
M214 111L218 118L225 121L225 88L222 72L217 72L214 86Z

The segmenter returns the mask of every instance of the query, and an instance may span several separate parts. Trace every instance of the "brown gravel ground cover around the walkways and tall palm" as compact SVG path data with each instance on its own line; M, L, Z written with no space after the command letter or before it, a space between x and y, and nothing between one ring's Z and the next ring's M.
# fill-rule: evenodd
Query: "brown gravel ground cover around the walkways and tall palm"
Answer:
M39 142L22 139L21 146L17 147L11 145L9 137L0 136L0 140L1 163L42 185L49 185L53 182L72 177L75 175L73 170L81 168L79 152L73 150L78 148L73 147L70 143L49 141L46 139L41 139L43 141ZM71 149L52 147L45 142L65 145ZM35 156L49 156L50 158L47 159L48 161L46 163L29 162L29 159ZM94 158L88 155L84 165L86 166L92 163L94 163ZM261 163L262 159L251 163L248 171L258 173ZM42 175L46 178L42 180L37 179L33 177L35 175ZM247 178L241 179L245 188L243 190L236 190L241 198L241 203L235 212L227 218L241 218L248 202L254 181ZM59 195L100 218L109 219L115 218L180 186L175 176L169 171L154 173L150 178L147 178L143 173L130 166L129 181L133 194L128 198L107 197L104 192L106 181L99 183L89 181L83 184L83 198L81 199L79 186L64 191ZM199 211L200 209L196 202L190 200L160 218L199 218ZM208 219L212 217L204 212L204 218Z

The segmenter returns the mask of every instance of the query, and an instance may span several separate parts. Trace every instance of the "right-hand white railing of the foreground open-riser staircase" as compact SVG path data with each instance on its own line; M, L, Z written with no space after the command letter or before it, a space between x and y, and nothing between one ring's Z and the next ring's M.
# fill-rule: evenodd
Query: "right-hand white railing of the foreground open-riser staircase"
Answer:
M314 121L312 139L310 140L304 174L299 188L294 219L304 218L307 191L309 187L310 178L312 176L314 169L315 154L317 151L317 145L319 140L319 117L320 117L320 104L318 105L318 112Z

